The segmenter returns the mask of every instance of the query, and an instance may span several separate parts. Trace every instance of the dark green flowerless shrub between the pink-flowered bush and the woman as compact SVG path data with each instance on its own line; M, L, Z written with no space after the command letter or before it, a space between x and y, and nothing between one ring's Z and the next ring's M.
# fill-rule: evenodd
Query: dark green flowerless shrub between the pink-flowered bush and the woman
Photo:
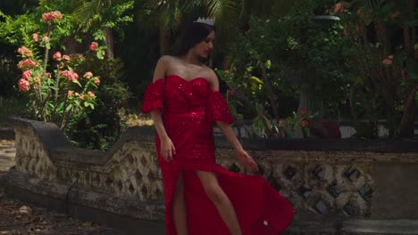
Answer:
M130 99L129 88L121 82L123 64L119 60L90 61L88 67L100 76L95 109L89 110L76 124L71 140L89 149L107 150L126 127L121 110Z

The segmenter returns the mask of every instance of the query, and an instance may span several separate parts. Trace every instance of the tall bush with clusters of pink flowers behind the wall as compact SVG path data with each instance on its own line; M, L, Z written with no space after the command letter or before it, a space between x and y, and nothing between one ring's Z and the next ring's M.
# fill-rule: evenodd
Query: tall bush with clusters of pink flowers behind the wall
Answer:
M53 28L63 20L63 14L58 11L46 12L42 18L48 24L47 32L44 35L41 32L34 33L32 42L17 50L21 56L17 67L22 72L18 87L21 92L29 93L28 108L33 118L54 122L64 130L69 123L75 123L74 118L81 117L86 109L95 109L94 89L100 84L100 78L91 71L84 72L83 76L79 74L85 70L82 65L88 58L104 58L104 46L94 42L86 55L55 52L50 56L49 41L54 36ZM45 50L43 56L38 53L41 48ZM54 69L49 69L48 65Z

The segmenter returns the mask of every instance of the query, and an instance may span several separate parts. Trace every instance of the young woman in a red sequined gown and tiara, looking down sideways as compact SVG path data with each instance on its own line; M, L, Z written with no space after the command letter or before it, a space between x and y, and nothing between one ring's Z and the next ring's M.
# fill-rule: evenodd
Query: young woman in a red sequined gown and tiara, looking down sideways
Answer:
M202 62L213 49L213 25L192 23L178 56L163 56L147 86L141 110L151 113L163 174L167 234L280 234L293 209L263 177L232 173L214 157L213 123L242 166L258 171L238 142L213 69Z

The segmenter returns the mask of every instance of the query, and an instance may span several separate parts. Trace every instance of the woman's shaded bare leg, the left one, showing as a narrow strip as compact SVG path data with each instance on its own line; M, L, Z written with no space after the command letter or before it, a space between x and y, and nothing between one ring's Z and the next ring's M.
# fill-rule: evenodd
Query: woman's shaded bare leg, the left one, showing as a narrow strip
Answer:
M180 172L177 179L174 198L172 199L172 215L174 225L178 235L188 234L188 220L186 215L186 200L184 199L184 180L183 174Z

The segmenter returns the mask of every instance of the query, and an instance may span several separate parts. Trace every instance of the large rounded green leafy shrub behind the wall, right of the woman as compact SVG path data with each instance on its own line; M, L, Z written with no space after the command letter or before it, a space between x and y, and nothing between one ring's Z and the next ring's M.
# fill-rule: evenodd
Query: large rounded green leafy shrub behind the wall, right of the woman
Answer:
M306 3L284 16L253 17L231 45L230 69L218 71L235 93L233 110L253 119L257 136L275 136L273 123L292 116L305 87L313 106L299 108L332 118L347 114L349 44L338 22L314 20L315 7Z

